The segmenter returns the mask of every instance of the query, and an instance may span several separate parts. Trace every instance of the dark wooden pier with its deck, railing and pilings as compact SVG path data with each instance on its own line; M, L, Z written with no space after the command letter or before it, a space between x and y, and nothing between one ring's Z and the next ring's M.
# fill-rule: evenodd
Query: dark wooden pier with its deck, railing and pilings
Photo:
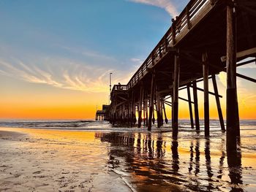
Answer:
M167 122L165 105L169 105L173 138L177 138L178 101L184 100L189 105L191 127L199 131L197 91L203 91L205 136L210 136L209 95L215 96L220 130L225 131L216 74L226 72L227 150L236 150L236 138L240 134L236 77L256 82L252 77L238 74L236 67L255 62L255 20L255 0L189 1L127 85L113 86L110 122L135 126L137 110L138 127L144 123L151 130L156 119L157 127L161 127L164 120ZM244 62L237 64L242 60ZM209 80L214 92L208 90ZM203 82L203 89L197 87L197 82ZM187 99L179 96L181 90L187 90Z

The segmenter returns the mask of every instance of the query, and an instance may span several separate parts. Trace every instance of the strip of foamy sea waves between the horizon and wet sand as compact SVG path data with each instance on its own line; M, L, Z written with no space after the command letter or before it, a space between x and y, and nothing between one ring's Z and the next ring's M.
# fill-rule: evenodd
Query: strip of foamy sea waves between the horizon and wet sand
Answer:
M241 120L242 130L256 130L256 120ZM162 131L170 131L171 122L164 124ZM135 131L134 128L125 126L111 126L108 121L97 120L1 120L0 127L15 128L48 128L48 129L65 129L65 130L106 130L120 129ZM203 130L203 120L200 120L200 129ZM193 131L190 126L190 120L179 120L179 128L181 131ZM140 130L139 128L138 130ZM145 128L143 128L145 129ZM219 120L210 120L211 131L219 131Z

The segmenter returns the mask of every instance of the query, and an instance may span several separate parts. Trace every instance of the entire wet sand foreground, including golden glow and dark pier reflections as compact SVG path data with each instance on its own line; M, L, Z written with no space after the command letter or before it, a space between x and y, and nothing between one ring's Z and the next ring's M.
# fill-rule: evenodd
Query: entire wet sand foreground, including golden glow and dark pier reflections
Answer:
M255 137L211 135L0 128L0 191L255 191Z

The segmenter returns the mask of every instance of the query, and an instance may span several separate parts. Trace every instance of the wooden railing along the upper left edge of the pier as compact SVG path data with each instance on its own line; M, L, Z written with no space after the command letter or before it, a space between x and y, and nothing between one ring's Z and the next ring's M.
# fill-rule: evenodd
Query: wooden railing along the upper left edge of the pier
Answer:
M200 18L203 18L207 11L214 6L219 0L191 0L181 14L173 19L173 24L170 26L164 37L159 41L154 50L148 55L148 58L143 62L140 68L132 76L127 83L127 89L132 88L147 72L148 69L154 67L160 59L167 54L169 48L174 47L191 28L193 28ZM202 12L201 14L197 14Z

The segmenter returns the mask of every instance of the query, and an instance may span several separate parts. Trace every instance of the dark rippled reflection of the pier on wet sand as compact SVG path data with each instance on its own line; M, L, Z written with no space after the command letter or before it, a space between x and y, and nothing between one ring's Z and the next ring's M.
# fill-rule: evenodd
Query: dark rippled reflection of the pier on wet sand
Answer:
M189 140L187 149L161 133L108 133L95 137L110 142L109 162L118 162L118 166L110 167L118 173L129 173L127 177L138 191L243 191L241 153L227 153L225 162L224 137L213 143L219 150L214 155L211 139L200 135Z

